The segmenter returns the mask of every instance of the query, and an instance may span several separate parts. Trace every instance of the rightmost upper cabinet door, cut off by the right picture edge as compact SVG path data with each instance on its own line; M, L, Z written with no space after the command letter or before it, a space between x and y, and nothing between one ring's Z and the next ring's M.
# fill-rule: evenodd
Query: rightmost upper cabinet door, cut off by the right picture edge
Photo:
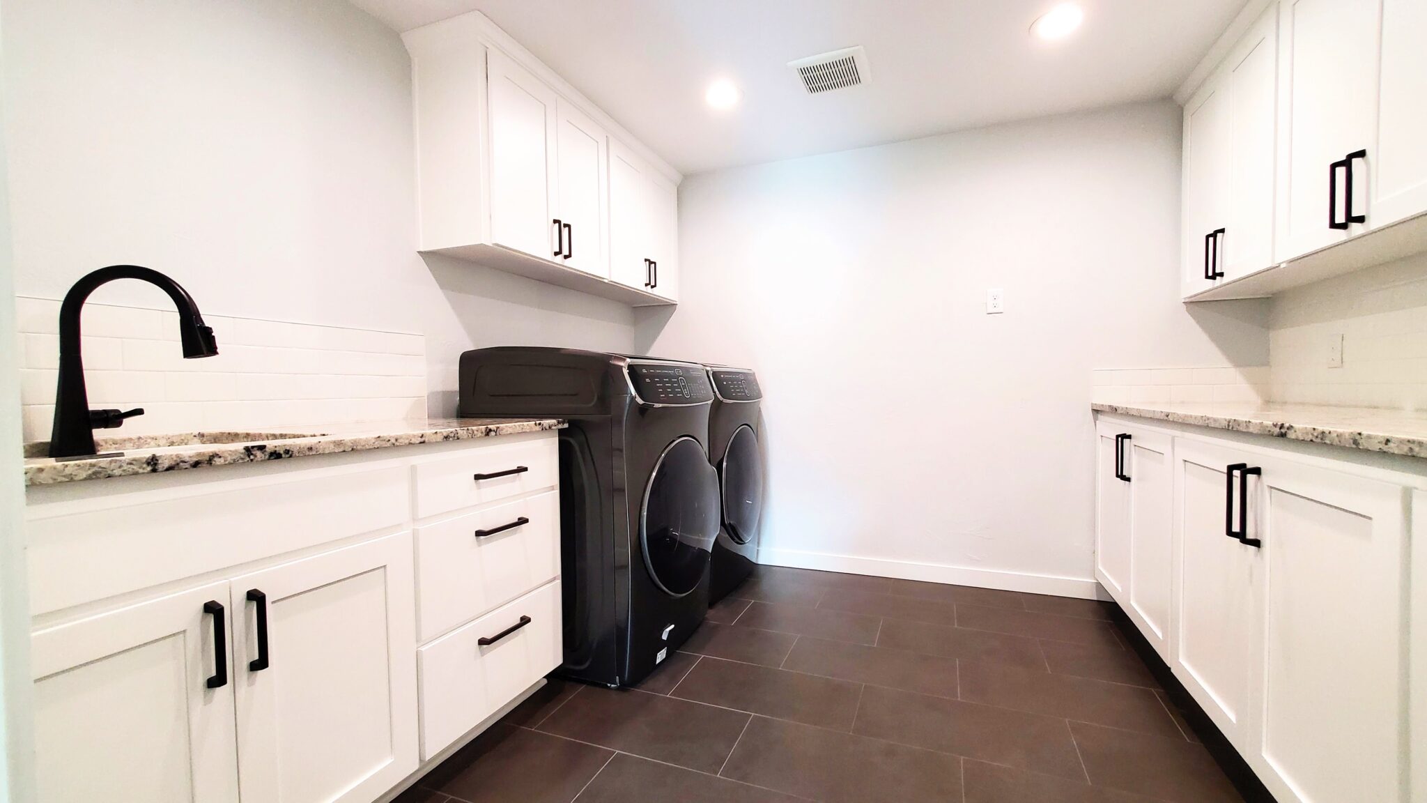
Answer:
M1383 0L1373 226L1427 211L1427 1Z

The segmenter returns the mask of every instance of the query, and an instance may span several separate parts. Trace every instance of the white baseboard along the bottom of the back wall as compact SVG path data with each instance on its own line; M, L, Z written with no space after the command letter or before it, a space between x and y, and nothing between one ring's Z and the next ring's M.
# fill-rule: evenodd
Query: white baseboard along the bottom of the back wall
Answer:
M1093 579L1055 577L1050 574L1025 574L1019 572L996 572L993 569L966 569L963 566L942 566L938 563L912 563L883 557L858 557L852 554L828 554L821 552L796 552L789 549L759 549L758 562L769 566L793 569L816 569L821 572L845 572L848 574L869 574L873 577L896 577L899 580L925 580L929 583L952 583L976 586L979 589L1000 589L1003 592L1026 592L1057 597L1086 600L1109 600L1109 592Z

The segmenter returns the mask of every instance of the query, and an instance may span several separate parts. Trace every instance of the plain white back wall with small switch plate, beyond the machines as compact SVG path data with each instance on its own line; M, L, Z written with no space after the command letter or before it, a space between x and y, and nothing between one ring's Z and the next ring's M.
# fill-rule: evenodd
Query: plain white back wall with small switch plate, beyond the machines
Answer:
M685 179L638 346L758 370L765 562L1090 593L1092 369L1267 363L1261 301L1179 300L1179 139L1157 103Z

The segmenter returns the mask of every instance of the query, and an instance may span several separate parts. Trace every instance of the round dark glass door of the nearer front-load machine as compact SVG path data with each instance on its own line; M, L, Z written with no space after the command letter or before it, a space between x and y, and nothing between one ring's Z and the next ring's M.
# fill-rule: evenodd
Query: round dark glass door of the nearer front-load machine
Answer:
M681 437L659 456L639 516L649 576L682 597L704 579L718 536L718 473L699 442Z

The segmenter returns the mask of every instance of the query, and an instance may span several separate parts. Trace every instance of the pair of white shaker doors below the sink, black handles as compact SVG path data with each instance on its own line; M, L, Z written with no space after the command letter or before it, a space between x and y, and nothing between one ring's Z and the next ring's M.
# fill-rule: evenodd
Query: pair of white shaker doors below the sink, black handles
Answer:
M40 800L378 797L418 766L411 556L400 533L34 633Z

